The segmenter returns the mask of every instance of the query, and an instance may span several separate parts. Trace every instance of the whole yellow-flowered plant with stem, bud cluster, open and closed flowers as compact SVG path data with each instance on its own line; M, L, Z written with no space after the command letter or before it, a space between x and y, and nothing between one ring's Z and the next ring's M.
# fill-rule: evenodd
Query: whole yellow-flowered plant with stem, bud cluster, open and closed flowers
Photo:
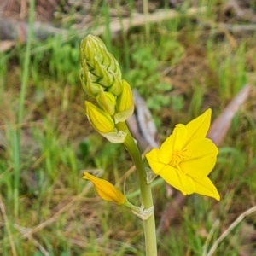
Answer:
M137 143L125 120L134 111L131 86L122 79L119 63L108 52L100 38L88 35L80 45L80 79L91 101L85 101L85 113L94 129L111 143L123 143L137 169L141 205L134 206L107 180L84 172L84 179L95 185L105 201L129 207L141 218L147 256L157 255L154 205L150 183L162 177L183 195L197 193L220 199L218 190L207 177L216 164L218 148L207 136L211 109L207 109L187 125L176 125L172 135L160 148L152 149L146 158L151 170L144 166Z

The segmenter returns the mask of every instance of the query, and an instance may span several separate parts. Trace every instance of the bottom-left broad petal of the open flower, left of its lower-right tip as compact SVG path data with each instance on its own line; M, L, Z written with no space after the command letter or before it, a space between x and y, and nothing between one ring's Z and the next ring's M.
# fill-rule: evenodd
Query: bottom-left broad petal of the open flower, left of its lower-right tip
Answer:
M183 195L190 195L196 191L192 178L172 166L165 166L159 174L166 183L180 190Z

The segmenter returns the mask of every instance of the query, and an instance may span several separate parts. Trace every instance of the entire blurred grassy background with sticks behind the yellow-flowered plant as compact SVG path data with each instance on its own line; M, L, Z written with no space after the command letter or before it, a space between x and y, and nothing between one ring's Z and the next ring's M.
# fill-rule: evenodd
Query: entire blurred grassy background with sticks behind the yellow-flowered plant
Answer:
M207 108L212 121L224 117L211 173L221 201L181 199L160 179L153 186L159 255L207 255L256 203L255 32L253 0L1 0L0 254L144 255L142 222L81 178L96 170L122 190L130 173L125 193L139 205L125 148L84 114L79 43L92 33L142 97L158 143ZM256 255L255 218L237 224L215 255Z

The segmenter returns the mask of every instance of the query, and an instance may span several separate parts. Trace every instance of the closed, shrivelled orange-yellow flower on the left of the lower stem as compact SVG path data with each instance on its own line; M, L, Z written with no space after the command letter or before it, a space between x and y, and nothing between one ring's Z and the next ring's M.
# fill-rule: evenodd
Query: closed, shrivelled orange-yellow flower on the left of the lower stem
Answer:
M125 195L123 195L107 180L90 175L88 172L84 172L83 178L90 180L95 185L98 195L100 195L103 200L113 201L118 205L123 205L125 203Z

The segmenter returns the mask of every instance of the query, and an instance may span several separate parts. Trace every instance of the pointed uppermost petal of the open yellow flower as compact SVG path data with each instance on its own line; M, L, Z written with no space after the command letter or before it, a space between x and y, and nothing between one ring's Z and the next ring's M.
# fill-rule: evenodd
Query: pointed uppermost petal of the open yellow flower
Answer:
M199 137L206 137L211 124L212 109L208 108L207 111L201 114L196 119L193 119L186 125L187 128L187 143Z

